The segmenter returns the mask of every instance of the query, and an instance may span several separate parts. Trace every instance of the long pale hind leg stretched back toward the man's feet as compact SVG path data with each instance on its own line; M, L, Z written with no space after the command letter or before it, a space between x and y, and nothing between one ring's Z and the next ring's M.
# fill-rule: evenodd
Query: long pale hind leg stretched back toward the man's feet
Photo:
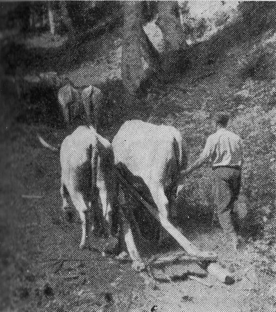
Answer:
M158 217L163 228L178 242L178 244L189 254L202 257L204 259L214 258L213 254L201 252L195 245L176 229L168 220L168 199L164 193L164 188L153 186L150 188L154 202L158 207Z

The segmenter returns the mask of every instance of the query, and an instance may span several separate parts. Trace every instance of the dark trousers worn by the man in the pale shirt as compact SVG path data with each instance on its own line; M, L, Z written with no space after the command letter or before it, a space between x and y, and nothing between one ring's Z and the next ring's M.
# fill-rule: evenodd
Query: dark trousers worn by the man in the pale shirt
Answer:
M241 170L234 167L213 167L215 213L223 232L234 232L233 208L241 186Z

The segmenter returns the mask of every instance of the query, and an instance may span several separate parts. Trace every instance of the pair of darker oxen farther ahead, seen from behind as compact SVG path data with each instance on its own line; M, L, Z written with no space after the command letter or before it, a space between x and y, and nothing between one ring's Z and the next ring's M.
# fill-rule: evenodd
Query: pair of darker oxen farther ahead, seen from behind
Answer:
M94 124L97 129L102 101L101 90L94 86L78 88L70 82L58 91L58 103L66 124L84 111L86 123Z

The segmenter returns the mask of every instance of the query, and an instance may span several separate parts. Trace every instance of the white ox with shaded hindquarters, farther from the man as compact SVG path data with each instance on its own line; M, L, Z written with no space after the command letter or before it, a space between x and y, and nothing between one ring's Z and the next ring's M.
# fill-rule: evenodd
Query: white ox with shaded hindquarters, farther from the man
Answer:
M107 233L110 234L110 217L116 190L112 179L113 159L110 142L91 126L78 127L61 144L62 207L66 209L71 199L80 214L82 222L80 248L84 247L87 235L86 213L91 211L91 214L94 214L92 219L95 220L98 197L102 204ZM94 226L91 229L94 230Z

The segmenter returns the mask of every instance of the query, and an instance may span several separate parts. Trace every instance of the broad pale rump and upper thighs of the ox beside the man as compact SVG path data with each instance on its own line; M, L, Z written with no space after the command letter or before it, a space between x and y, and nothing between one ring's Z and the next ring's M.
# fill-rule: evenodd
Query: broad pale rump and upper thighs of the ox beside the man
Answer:
M114 137L112 148L115 163L124 168L127 179L137 190L143 183L149 192L160 186L170 197L178 172L186 165L181 134L175 128L127 121Z

